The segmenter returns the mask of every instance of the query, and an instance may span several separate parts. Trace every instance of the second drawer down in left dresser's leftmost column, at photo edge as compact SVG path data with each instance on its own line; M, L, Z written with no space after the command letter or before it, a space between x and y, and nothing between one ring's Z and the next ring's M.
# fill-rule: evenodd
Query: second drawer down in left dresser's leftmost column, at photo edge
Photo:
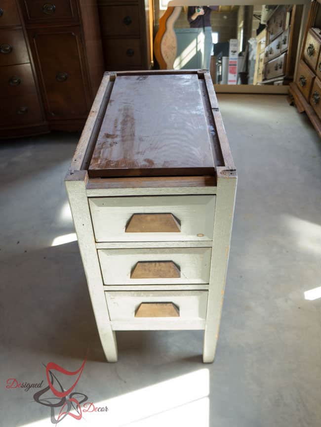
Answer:
M27 45L20 28L0 29L0 64L14 65L29 62Z

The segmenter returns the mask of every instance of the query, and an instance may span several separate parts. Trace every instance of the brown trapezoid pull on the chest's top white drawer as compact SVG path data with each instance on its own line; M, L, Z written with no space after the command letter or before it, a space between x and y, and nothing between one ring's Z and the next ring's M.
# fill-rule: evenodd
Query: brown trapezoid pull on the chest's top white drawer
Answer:
M134 213L125 233L180 233L180 221L172 213Z

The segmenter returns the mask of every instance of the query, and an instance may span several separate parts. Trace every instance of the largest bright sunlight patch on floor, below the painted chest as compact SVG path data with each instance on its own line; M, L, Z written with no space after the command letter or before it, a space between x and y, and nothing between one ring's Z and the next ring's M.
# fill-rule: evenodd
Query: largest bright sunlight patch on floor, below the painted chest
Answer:
M112 390L113 384L106 383L106 387ZM81 380L77 388L86 392L88 402L91 402L90 390L80 390ZM95 407L107 406L108 412L84 412L82 416L86 425L98 427L209 427L208 394L209 371L204 368L120 396L94 401ZM47 425L49 418L48 414L46 420L20 426L42 427ZM78 421L66 417L61 425L77 426Z

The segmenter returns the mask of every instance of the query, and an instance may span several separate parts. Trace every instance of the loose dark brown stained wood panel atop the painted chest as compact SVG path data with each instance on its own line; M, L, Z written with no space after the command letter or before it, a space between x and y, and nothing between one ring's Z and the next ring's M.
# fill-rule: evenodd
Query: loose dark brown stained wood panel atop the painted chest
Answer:
M214 174L196 74L117 76L90 177Z

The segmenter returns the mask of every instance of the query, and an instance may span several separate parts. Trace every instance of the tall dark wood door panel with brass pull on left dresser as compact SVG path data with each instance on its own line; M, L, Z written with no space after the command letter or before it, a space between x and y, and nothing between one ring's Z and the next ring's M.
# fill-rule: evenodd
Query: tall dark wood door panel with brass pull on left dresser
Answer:
M80 27L43 26L28 32L34 57L38 57L47 119L84 117L90 103L82 80L84 57Z

